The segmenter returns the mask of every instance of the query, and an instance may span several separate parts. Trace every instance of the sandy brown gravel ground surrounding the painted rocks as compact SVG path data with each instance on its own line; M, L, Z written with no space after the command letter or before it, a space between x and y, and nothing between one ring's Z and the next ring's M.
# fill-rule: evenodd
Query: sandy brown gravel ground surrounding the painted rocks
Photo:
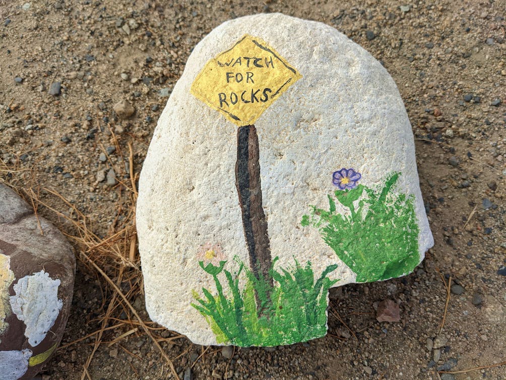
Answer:
M89 216L98 236L107 236L124 218L118 204L128 204L128 143L138 173L191 49L223 21L259 12L332 25L391 73L416 138L435 246L405 278L334 289L324 338L224 351L186 338L163 343L180 377L506 378L506 366L435 372L506 360L504 0L0 0L0 158L11 168L0 170L1 177L25 189L58 191ZM121 100L135 108L128 119L113 111ZM123 104L120 112L128 108ZM47 191L39 197L68 215L69 205ZM71 233L49 208L39 212ZM440 273L452 279L441 333L446 289ZM104 288L94 271L78 264L63 344L100 328L109 300ZM375 319L374 306L387 298L399 303L398 323ZM132 302L147 318L142 294ZM108 330L103 340L128 330ZM82 378L93 342L59 350L43 379ZM173 378L152 341L137 333L101 345L89 373L93 380Z

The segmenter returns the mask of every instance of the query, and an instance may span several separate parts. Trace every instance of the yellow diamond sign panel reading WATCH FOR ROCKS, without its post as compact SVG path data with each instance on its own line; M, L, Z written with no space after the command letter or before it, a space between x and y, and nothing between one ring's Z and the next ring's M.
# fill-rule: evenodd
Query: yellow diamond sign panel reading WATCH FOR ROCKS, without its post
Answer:
M301 78L265 41L246 34L231 49L205 64L190 91L231 122L244 126L255 123Z

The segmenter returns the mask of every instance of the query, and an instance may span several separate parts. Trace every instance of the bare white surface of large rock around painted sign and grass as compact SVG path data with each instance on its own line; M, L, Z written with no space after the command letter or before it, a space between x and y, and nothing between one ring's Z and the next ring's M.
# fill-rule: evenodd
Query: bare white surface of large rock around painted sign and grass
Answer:
M139 180L137 229L153 321L216 345L204 318L190 306L192 289L214 289L198 267L199 247L248 262L235 187L237 127L190 95L206 62L248 33L276 49L303 78L257 120L263 207L272 257L286 268L310 260L316 275L339 263L336 286L354 273L317 229L302 228L309 205L328 208L333 171L352 167L361 183L380 184L402 172L397 189L415 196L420 261L433 238L418 185L411 126L399 91L385 68L345 35L322 23L281 14L228 21L193 50L158 120Z

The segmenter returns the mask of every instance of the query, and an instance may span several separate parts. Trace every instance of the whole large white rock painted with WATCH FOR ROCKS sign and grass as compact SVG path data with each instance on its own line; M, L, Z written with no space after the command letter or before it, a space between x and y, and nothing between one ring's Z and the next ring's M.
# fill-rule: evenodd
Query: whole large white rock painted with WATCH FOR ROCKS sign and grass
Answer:
M281 14L195 47L139 186L146 308L201 345L323 336L330 287L408 274L433 245L394 81Z

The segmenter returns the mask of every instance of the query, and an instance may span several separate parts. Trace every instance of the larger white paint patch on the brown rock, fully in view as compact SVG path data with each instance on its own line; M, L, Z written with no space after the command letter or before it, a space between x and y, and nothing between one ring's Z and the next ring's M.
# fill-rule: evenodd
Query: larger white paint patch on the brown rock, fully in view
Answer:
M53 280L44 270L25 276L14 284L16 295L10 297L11 308L26 325L25 336L30 346L44 340L63 306L58 299L60 280Z

